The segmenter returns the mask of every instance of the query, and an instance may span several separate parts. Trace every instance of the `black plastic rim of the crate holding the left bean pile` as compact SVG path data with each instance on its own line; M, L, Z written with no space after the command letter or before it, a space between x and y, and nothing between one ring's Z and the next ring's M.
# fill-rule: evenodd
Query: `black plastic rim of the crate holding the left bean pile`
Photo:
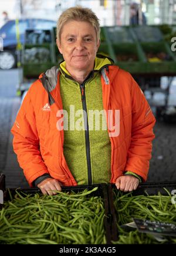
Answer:
M83 185L83 186L63 186L62 191L63 192L75 192L79 193L85 189L92 190L94 187L98 187L96 191L91 193L89 196L98 196L103 198L104 201L104 230L106 233L106 242L107 244L111 244L111 214L110 214L110 208L109 208L109 198L108 198L108 192L107 192L107 186L106 184L93 184L93 185ZM35 193L41 193L39 188L18 188L19 193L25 193L25 194L35 194ZM14 197L16 194L16 188L8 188L4 191L4 201L11 200L11 196Z

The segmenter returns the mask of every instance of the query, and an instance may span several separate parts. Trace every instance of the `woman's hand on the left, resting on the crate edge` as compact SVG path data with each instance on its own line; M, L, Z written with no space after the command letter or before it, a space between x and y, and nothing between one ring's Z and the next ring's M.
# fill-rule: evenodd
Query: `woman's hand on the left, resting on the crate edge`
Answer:
M61 191L61 183L59 183L58 180L55 180L55 178L46 178L46 180L43 180L38 184L38 188L42 191L42 193L49 194L49 195L55 195L57 194L54 191L51 190L58 190Z

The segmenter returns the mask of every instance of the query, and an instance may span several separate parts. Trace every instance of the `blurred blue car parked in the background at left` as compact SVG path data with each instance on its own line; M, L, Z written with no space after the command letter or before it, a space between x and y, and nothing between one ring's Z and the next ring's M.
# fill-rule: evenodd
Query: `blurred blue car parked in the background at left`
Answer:
M48 19L19 19L20 41L25 42L26 29L52 29L56 21ZM16 66L16 24L15 19L8 21L0 28L0 37L3 39L4 49L0 52L0 69L11 69Z

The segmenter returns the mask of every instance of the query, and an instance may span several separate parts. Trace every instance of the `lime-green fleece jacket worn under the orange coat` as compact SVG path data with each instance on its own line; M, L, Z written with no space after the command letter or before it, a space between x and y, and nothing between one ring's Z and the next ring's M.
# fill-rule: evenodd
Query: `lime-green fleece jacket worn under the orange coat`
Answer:
M104 125L106 120L102 112L103 99L100 79L100 69L106 65L111 65L109 59L96 58L92 74L84 81L92 183L109 183L111 178L111 144L107 126ZM82 92L79 83L73 80L67 72L65 62L60 63L60 71L60 95L63 109L68 113L68 122L65 120L63 153L77 184L88 184ZM96 110L97 116L94 114L94 110ZM100 115L97 110L101 111Z

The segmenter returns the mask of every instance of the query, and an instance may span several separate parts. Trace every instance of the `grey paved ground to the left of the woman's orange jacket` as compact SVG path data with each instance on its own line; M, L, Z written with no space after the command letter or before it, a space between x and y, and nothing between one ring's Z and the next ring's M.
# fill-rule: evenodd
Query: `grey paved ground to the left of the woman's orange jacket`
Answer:
M12 148L10 129L20 106L16 86L21 80L18 69L0 70L0 173L6 177L6 187L28 187Z

